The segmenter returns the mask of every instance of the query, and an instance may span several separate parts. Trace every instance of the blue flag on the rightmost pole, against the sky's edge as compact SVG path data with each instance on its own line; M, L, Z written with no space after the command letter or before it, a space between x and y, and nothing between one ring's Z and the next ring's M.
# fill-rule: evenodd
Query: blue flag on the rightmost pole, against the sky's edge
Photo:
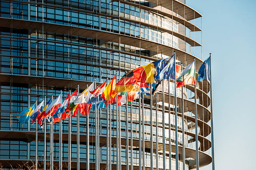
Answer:
M198 81L202 82L202 80L210 81L210 57L208 57L201 65L198 71Z

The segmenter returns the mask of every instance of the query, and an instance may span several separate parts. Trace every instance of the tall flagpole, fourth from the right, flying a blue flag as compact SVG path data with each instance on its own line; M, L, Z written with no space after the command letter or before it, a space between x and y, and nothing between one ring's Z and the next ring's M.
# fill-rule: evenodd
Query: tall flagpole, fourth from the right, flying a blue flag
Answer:
M177 85L176 85L176 55L174 51L174 105L175 105L175 167L179 170L179 153L178 153L178 123L177 123Z

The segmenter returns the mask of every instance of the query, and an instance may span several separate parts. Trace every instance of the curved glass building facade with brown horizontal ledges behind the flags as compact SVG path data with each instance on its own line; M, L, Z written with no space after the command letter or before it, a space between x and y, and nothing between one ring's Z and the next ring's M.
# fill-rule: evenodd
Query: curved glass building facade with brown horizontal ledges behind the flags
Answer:
M34 162L36 156L35 130L32 122L20 125L16 116L36 100L55 98L62 90L63 99L80 87L80 92L94 80L104 82L117 74L169 57L176 52L177 64L202 64L202 15L185 1L178 0L0 0L0 165L18 168ZM197 82L197 121L199 166L211 163L210 84ZM139 166L139 126L144 125L145 168L151 168L150 138L153 137L153 168L175 169L175 143L179 145L179 169L183 169L182 146L185 148L185 170L196 168L195 150L195 90L193 85L177 90L178 141L175 141L174 85L170 82L153 97L153 117L150 102L144 97L141 110L144 122L139 122L138 99L133 107L120 107L121 146L117 149L116 107L111 109L111 164L116 167L120 150L122 169L126 166L126 130L129 158ZM184 97L184 129L182 128L182 95ZM156 98L157 96L157 98ZM170 100L169 100L170 97ZM170 105L169 105L170 101ZM156 108L157 107L157 108ZM170 108L170 114L169 114ZM156 111L157 110L157 111ZM130 114L132 112L132 114ZM157 114L156 114L157 113ZM132 115L132 123L131 123ZM156 116L157 115L157 116ZM95 136L94 112L80 115L80 169L86 169L86 135ZM100 167L107 161L107 110L100 110ZM128 127L126 128L126 119ZM150 120L153 120L153 131ZM163 126L164 118L164 126ZM132 127L131 127L132 126ZM38 126L39 127L39 126ZM164 128L163 128L164 127ZM132 130L131 130L132 129ZM164 132L163 133L163 129ZM68 167L68 119L62 121L63 169ZM49 123L47 123L46 167L49 169ZM131 131L133 133L131 133ZM182 142L184 131L184 143ZM131 138L132 134L132 138ZM165 135L163 135L165 134ZM77 168L77 118L72 117L72 169ZM165 137L165 154L163 154ZM124 141L124 142L123 142ZM90 169L95 169L95 143L90 142ZM169 152L171 148L171 153ZM171 159L171 161L169 161ZM129 159L131 165L131 159ZM170 167L171 165L171 167ZM11 167L12 166L12 167ZM59 166L59 123L54 124L54 168ZM38 169L44 168L44 132L38 130Z

